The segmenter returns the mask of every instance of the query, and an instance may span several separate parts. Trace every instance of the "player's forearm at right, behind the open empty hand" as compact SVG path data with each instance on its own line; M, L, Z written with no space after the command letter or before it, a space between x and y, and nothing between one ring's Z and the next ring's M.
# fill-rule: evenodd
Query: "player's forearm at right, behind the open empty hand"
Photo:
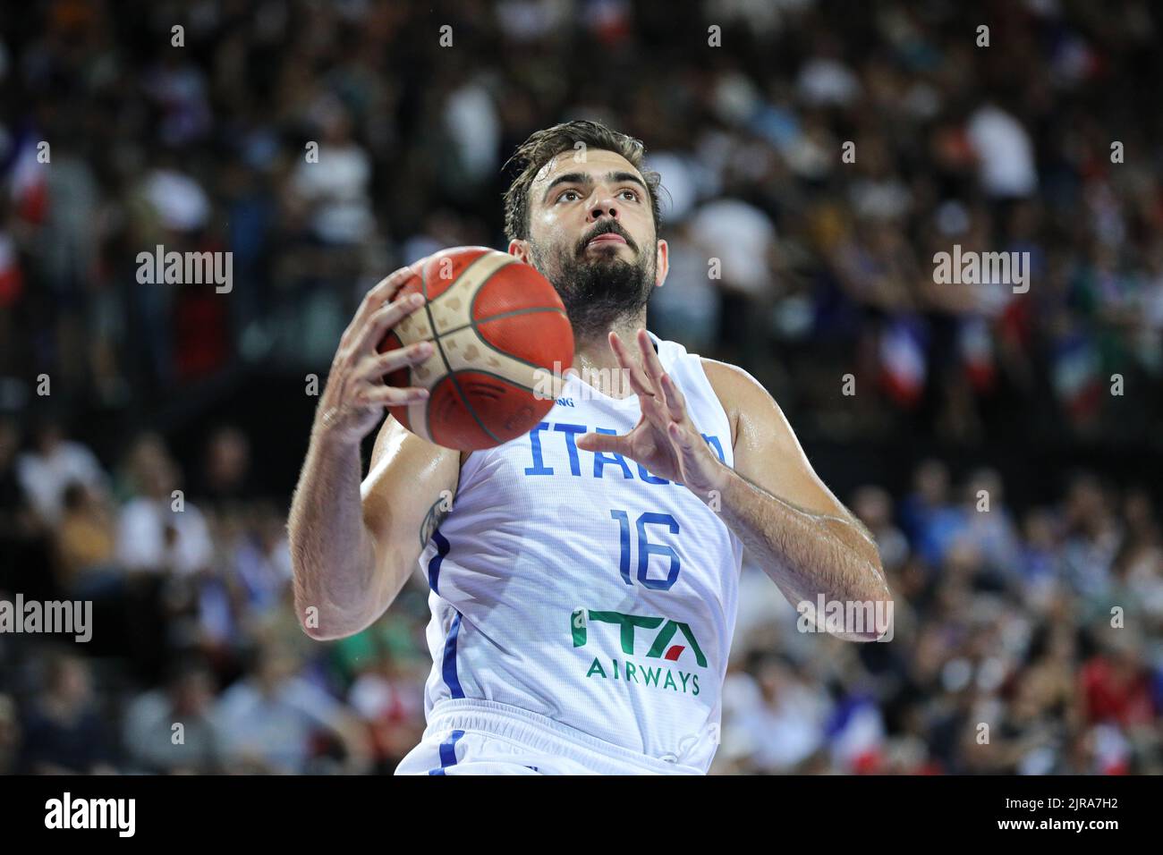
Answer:
M892 598L876 543L858 526L805 511L728 470L720 516L795 605Z

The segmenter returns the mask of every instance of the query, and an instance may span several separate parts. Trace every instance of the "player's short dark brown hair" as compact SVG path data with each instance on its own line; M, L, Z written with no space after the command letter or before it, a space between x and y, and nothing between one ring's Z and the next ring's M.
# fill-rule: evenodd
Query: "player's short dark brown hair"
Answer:
M662 177L657 172L642 169L647 147L641 140L607 128L600 122L578 120L562 122L552 128L545 128L533 134L521 143L504 169L514 166L520 170L509 188L505 191L505 237L509 241L521 241L529 236L529 188L549 161L563 151L575 151L578 143L585 144L585 150L613 151L621 155L642 173L647 190L650 193L650 211L654 214L655 235L662 221L658 205L658 187Z

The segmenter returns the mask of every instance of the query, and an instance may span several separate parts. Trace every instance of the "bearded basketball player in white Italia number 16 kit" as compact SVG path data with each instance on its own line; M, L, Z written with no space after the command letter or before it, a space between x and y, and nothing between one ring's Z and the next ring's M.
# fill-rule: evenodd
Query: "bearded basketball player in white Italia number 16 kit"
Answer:
M377 352L422 301L393 300L407 269L340 342L291 508L295 607L312 637L351 635L419 561L428 726L397 774L705 774L743 547L793 604L890 600L876 543L766 391L644 329L666 242L643 155L580 121L514 155L508 251L557 288L577 350L526 436L461 453L388 416L361 483L385 405L426 396L381 378L430 344Z

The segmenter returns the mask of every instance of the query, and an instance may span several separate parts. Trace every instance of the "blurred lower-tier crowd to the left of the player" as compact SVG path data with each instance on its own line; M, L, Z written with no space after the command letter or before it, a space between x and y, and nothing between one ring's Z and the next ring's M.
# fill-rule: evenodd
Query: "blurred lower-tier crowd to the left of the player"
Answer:
M419 741L424 592L308 639L241 430L190 484L155 433L109 469L51 419L28 439L0 421L0 599L91 601L92 639L0 633L0 772L391 771Z

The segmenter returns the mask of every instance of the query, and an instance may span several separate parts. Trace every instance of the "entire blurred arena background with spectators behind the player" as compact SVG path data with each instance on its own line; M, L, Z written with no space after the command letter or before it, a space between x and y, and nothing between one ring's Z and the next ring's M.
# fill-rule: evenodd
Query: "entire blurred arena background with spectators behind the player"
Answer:
M305 390L385 273L505 247L502 164L573 117L662 172L651 328L765 383L897 596L891 643L847 644L745 564L714 771L1163 770L1163 7L36 0L0 22L0 598L94 604L85 644L0 634L0 771L384 774L415 744L419 577L341 642L291 611ZM955 243L1028 251L1028 293L935 285ZM138 284L157 244L231 251L231 292Z

